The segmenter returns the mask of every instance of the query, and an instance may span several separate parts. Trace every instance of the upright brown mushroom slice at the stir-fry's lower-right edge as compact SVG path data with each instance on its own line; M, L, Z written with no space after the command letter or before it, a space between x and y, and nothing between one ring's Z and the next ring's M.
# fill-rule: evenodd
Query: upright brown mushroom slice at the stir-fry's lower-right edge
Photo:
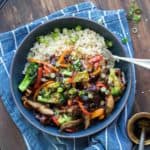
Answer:
M114 108L114 98L112 95L106 97L106 114L110 114Z

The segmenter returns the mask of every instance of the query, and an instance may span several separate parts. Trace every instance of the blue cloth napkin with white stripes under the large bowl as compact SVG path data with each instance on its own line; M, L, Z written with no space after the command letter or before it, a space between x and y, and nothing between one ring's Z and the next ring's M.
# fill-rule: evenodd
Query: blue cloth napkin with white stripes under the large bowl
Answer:
M132 88L121 115L103 131L80 139L62 139L35 129L20 114L9 87L9 70L15 51L32 29L44 22L63 16L79 16L103 23L119 40L128 38L125 50L133 57L132 43L124 10L99 10L93 3L84 2L66 7L48 16L0 34L0 96L12 120L20 130L28 150L130 150L132 143L127 137L126 123L130 116L135 95L135 69L132 65Z

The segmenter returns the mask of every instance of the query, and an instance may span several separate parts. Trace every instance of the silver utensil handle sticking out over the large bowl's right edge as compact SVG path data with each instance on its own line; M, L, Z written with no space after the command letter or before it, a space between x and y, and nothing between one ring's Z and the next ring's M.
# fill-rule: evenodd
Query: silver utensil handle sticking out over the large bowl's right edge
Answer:
M113 55L116 60L123 60L129 63L136 64L146 69L150 69L150 59L137 59L137 58L127 58Z

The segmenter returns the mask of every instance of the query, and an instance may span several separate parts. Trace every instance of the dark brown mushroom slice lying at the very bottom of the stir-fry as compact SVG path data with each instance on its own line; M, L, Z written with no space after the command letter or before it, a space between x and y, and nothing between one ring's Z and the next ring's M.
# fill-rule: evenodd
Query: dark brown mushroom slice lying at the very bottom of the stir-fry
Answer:
M66 122L60 126L60 130L63 131L67 128L75 127L75 126L79 125L82 121L83 121L82 119L77 119L77 120L72 120L72 121Z

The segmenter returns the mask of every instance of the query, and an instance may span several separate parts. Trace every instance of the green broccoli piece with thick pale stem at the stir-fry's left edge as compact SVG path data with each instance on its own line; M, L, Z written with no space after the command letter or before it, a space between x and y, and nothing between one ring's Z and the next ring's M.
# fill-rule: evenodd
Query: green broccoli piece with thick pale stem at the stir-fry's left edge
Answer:
M37 76L37 70L38 64L36 63L29 64L25 72L25 76L18 87L21 92L24 92L29 87L29 85L33 83L35 77Z

